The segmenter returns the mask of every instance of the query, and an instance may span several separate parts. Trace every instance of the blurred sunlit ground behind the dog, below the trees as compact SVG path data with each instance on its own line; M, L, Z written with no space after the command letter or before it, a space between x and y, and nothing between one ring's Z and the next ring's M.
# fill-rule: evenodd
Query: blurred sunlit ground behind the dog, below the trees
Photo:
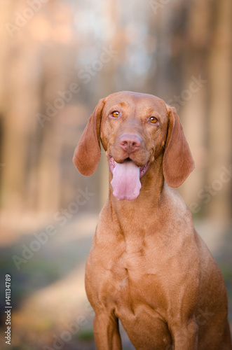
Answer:
M56 234L41 244L31 258L20 263L19 270L12 256L22 256L22 244L29 247L35 240L34 232L32 235L18 232L14 242L5 241L0 247L1 276L6 273L12 276L11 349L95 349L93 310L84 290L84 267L96 223L97 214L82 214L76 220L70 219L63 228L56 226ZM196 228L224 274L232 325L232 226L198 222ZM44 232L44 227L36 232ZM4 309L3 287L1 283L1 310ZM4 331L3 327L1 349L8 349ZM122 335L123 349L134 349L123 330Z

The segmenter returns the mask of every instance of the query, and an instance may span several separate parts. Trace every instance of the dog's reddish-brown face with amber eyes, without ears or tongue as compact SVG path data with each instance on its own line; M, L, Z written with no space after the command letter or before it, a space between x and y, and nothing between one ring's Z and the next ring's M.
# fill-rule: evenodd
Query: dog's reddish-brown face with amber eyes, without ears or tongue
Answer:
M164 151L168 113L164 102L150 94L111 94L102 110L100 139L109 158L132 160L138 167Z

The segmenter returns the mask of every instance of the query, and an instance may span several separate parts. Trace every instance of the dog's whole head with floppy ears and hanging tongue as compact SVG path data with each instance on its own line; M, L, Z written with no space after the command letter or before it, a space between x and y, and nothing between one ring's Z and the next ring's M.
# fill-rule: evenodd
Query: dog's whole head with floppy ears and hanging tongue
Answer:
M175 108L151 94L123 91L100 100L74 153L81 174L91 175L97 169L100 142L119 200L139 195L139 178L158 157L163 157L163 176L171 187L181 186L194 169Z

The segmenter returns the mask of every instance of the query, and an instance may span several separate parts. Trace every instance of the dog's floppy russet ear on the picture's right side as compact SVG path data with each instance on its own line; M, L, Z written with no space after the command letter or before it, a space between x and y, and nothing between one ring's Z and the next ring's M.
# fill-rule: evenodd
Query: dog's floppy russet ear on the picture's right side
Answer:
M168 135L163 156L163 175L171 187L179 187L194 169L189 144L184 136L175 107L167 106Z

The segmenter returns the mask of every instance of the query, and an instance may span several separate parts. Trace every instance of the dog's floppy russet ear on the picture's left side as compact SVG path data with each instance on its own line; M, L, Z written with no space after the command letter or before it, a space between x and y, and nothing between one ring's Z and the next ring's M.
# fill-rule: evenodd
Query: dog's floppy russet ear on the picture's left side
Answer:
M74 151L74 165L83 175L92 175L100 161L100 123L103 107L103 99L100 99Z

